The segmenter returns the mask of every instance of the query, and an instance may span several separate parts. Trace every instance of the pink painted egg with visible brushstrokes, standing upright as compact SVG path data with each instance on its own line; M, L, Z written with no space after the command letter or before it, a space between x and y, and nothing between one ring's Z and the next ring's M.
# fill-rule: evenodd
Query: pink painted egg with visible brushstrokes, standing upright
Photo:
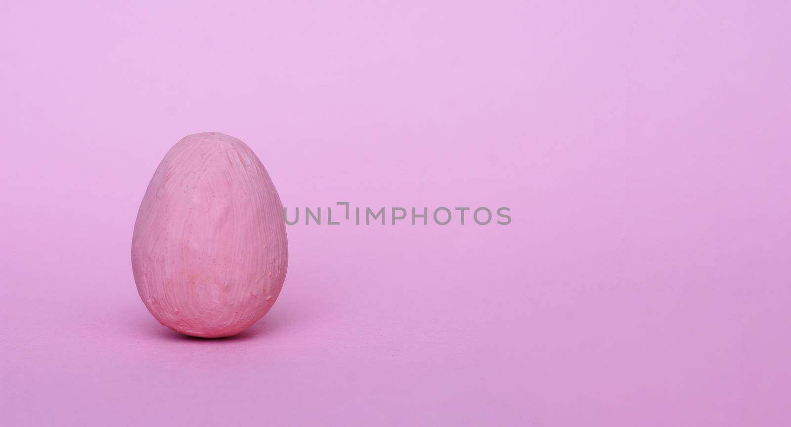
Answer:
M278 298L288 244L283 206L248 145L189 135L149 183L132 236L132 270L163 325L218 338L250 327Z

